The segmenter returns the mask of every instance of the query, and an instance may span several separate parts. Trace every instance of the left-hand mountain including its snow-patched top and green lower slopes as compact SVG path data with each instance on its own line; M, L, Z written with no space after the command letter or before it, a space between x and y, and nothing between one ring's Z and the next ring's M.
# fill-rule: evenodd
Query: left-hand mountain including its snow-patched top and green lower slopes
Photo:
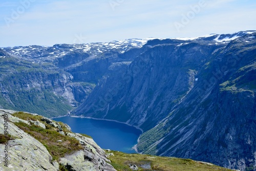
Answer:
M88 97L112 63L133 60L146 41L2 48L0 108L66 115ZM134 55L123 54L128 50Z

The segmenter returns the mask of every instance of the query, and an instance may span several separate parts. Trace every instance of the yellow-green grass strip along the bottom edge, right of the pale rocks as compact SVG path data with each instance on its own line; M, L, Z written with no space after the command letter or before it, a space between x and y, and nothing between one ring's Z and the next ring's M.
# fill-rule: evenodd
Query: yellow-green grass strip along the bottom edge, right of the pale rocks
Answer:
M173 157L158 157L141 154L125 154L122 152L112 151L114 156L110 156L111 164L115 169L120 171L131 170L128 164L136 164L139 170L161 170L161 171L211 171L220 170L228 171L230 169L216 165L209 165L203 162L196 162L190 159L180 159ZM141 165L150 165L151 169L142 168Z

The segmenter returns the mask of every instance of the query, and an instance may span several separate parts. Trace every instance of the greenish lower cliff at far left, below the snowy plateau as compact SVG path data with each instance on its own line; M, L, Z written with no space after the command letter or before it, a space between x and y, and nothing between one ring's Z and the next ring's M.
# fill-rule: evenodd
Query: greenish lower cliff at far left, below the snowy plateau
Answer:
M85 96L92 90L83 84L72 83L71 74L55 69L51 63L38 65L10 55L0 58L0 61L2 108L31 111L48 117L66 115L72 106L77 105L80 94ZM77 92L78 88L83 88L83 91Z

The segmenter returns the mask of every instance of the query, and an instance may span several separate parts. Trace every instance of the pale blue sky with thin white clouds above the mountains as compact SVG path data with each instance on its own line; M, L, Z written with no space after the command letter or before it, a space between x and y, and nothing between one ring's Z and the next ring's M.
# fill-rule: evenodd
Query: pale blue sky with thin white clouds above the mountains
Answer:
M256 30L255 0L2 0L0 47Z

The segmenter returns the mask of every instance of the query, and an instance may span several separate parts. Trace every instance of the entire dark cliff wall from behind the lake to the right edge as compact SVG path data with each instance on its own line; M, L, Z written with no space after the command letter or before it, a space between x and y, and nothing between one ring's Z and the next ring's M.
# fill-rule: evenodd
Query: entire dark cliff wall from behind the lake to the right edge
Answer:
M74 113L141 127L142 153L255 167L255 34L213 39L149 41Z

